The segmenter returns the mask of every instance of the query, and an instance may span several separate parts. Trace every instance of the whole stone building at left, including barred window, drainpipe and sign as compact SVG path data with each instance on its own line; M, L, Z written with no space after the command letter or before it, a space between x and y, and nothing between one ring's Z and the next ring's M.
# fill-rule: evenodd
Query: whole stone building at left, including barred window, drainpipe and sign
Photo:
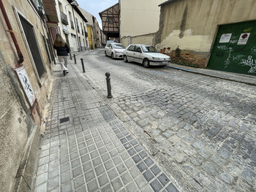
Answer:
M52 45L41 1L0 0L0 7L0 191L29 191L52 84Z

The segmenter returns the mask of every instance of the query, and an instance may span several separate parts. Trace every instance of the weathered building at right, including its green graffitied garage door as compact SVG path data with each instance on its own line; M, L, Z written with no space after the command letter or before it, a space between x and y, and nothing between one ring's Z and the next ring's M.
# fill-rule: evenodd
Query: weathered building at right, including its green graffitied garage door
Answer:
M256 75L254 0L169 0L159 7L157 47L174 63Z

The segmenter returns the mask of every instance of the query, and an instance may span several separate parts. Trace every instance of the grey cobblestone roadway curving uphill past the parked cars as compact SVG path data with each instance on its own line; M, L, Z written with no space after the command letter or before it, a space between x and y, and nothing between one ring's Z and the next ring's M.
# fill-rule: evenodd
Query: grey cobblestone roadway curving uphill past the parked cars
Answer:
M78 55L94 89L182 191L256 191L256 89L176 69Z

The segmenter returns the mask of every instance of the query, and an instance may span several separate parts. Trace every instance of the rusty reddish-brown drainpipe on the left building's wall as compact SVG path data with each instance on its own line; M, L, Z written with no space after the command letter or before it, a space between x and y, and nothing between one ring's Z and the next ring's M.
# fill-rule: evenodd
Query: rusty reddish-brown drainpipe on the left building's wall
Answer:
M9 29L7 32L10 32L10 34L11 34L12 41L13 41L15 47L16 47L16 50L17 50L17 53L18 53L18 57L19 57L19 59L20 59L20 60L18 61L18 65L16 65L16 66L20 66L20 64L23 63L24 58L23 58L23 55L22 55L22 53L21 53L21 51L20 51L20 47L19 47L19 45L18 45L18 42L17 42L17 39L16 39L16 37L15 37L14 31L12 30L12 26L11 26L10 20L9 20L9 18L8 18L8 16L7 16L7 12L5 11L4 4L3 4L3 1L2 1L2 0L0 0L0 8L1 8L2 14L4 15L4 20L5 20L5 22L7 23L7 27L8 27L8 29Z

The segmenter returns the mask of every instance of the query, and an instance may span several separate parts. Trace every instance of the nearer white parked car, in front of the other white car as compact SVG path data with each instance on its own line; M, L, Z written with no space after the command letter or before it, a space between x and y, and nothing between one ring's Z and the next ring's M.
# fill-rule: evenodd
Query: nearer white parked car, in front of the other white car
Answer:
M166 66L170 57L158 51L151 45L129 45L124 50L124 62L134 61L149 66Z

